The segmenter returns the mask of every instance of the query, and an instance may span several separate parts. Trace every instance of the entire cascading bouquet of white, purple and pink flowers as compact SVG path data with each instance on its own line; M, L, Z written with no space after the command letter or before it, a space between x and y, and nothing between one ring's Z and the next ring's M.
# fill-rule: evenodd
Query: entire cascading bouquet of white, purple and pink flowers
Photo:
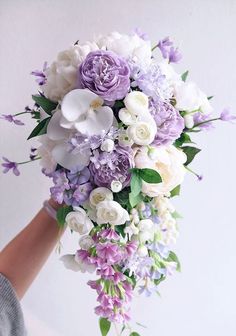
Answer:
M88 285L97 292L103 336L111 322L139 335L128 326L134 291L158 292L180 270L172 251L179 215L170 199L186 171L194 173L188 165L200 149L190 135L235 119L226 109L211 116L212 97L187 81L188 71L173 69L180 59L169 38L152 47L138 30L77 41L32 72L40 87L33 108L2 115L17 125L24 113L37 121L28 139L38 137L40 146L27 162L40 159L51 196L63 205L59 225L80 235L79 249L62 260L96 272ZM15 175L25 163L4 161L4 173Z

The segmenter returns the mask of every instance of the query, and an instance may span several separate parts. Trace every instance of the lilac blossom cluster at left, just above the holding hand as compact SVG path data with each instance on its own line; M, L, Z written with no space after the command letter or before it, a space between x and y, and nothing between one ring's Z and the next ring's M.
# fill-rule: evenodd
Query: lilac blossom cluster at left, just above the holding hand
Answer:
M89 197L93 185L89 182L90 172L86 167L82 171L56 170L51 174L54 186L50 188L52 198L71 206L83 204Z

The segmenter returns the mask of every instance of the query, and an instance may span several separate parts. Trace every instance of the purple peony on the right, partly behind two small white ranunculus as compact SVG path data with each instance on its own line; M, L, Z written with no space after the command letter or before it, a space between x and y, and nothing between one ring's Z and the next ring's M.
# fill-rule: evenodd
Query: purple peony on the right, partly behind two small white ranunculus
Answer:
M167 145L178 139L184 129L184 119L171 104L151 103L151 114L157 125L157 134L153 143L157 146Z

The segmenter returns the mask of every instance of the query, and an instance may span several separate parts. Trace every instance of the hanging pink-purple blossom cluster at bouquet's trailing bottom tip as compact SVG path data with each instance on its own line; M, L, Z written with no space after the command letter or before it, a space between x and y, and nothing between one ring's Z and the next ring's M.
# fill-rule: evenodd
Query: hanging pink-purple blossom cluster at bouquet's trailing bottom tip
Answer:
M75 258L87 266L94 265L100 276L100 279L88 282L98 294L99 305L95 313L112 322L125 323L130 319L127 304L132 299L133 286L121 271L121 265L135 255L137 243L122 244L120 236L111 228L95 234L93 241L89 251L80 249Z

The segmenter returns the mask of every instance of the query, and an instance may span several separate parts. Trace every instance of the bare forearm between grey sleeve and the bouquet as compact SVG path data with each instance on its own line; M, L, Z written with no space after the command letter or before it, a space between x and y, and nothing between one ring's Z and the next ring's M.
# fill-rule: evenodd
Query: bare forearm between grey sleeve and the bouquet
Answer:
M52 199L49 204L58 209ZM0 273L21 299L59 242L64 229L42 208L32 221L0 252Z

